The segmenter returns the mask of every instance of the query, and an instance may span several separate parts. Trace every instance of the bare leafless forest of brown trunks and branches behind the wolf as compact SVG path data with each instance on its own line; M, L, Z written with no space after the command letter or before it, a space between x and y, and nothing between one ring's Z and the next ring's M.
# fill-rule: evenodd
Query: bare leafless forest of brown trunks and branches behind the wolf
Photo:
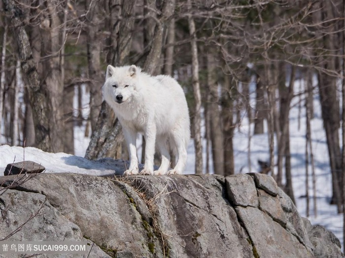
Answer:
M251 138L268 134L269 159L258 160L260 172L272 174L295 201L289 113L298 105L306 114L306 174L314 183L318 98L330 202L343 212L344 0L2 0L0 10L1 144L74 154L73 128L84 123L91 137L86 158L128 159L101 87L108 64L136 64L184 88L196 173L240 172L233 136L246 120L253 125L248 155Z

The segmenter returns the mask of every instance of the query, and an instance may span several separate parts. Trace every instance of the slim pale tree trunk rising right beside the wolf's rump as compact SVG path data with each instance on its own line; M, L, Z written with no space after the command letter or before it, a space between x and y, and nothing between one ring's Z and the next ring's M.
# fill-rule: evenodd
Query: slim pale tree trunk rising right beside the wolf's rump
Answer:
M191 4L191 1L188 1ZM194 129L194 149L195 149L195 173L203 173L203 145L201 138L201 93L199 83L199 61L198 61L198 45L196 40L195 23L192 16L188 16L189 34L192 37L191 50L192 50L192 83L193 95L195 101L195 114L193 117Z

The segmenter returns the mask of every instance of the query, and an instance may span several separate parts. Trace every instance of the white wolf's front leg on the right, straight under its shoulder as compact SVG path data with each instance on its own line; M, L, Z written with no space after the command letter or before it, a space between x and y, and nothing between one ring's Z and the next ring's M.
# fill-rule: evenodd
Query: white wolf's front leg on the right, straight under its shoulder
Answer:
M155 143L156 143L156 125L151 122L148 123L145 136L145 163L144 169L140 174L153 175L153 157L155 154Z

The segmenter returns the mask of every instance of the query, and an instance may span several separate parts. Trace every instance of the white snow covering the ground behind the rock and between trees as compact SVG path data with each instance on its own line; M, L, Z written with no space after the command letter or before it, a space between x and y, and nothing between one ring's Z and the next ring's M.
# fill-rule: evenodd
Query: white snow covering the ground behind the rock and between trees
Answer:
M306 119L305 109L299 110L298 98L293 99L290 112L290 145L291 145L291 164L292 164L292 180L293 189L296 199L296 206L301 216L306 217L306 195L305 181L306 181L306 165L305 165L305 134L306 134ZM302 107L304 103L301 104ZM83 114L85 115L85 114ZM86 116L86 115L85 115ZM300 117L300 119L299 119ZM259 166L257 161L269 160L269 144L267 134L252 135L250 143L250 151L248 146L248 130L250 134L253 132L253 125L249 127L247 118L243 115L241 128L237 128L234 136L234 159L235 159L235 172L258 172ZM315 161L316 173L316 204L317 216L313 214L313 202L311 184L311 167L310 172L310 211L309 219L312 224L320 224L331 230L343 243L343 215L337 214L336 206L329 205L332 196L331 188L331 173L329 168L328 150L326 144L326 136L322 125L321 108L316 96L314 99L314 118L311 120L311 138L312 149ZM0 175L7 164L13 162L20 162L24 160L32 160L46 168L46 172L73 172L85 173L94 175L104 175L115 172L121 172L124 167L128 167L122 161L114 161L112 159L102 159L99 161L89 161L82 158L85 155L86 148L89 143L89 136L84 136L85 123L81 127L74 128L75 137L75 156L66 153L46 153L33 147L22 147L2 145L0 146ZM140 137L138 137L138 146L141 146ZM204 169L206 167L206 142L204 146ZM138 156L140 157L141 150L138 149ZM212 160L210 151L210 172L212 173ZM249 166L250 164L250 166ZM186 174L194 173L195 156L194 144L191 141L188 145L188 162L186 167Z

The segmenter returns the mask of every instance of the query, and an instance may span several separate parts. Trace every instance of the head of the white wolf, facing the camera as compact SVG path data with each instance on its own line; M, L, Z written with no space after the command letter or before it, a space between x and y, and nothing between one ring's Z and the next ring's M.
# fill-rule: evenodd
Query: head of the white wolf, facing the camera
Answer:
M122 105L131 100L136 92L138 73L140 68L135 65L122 67L108 65L103 86L105 101L109 104Z

